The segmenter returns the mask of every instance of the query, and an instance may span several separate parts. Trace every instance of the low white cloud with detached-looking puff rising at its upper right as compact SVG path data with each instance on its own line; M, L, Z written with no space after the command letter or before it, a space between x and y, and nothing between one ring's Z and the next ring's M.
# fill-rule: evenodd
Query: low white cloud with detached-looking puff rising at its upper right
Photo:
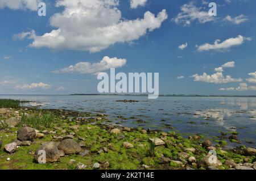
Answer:
M212 75L203 73L203 75L195 74L195 75L192 75L191 77L194 78L194 81L196 82L208 82L208 83L216 83L216 84L242 82L243 80L241 78L232 78L230 75L226 75L226 76L223 75L224 68L233 68L234 64L235 64L234 61L227 62L226 64L218 68L215 68L214 71L216 71L216 73Z

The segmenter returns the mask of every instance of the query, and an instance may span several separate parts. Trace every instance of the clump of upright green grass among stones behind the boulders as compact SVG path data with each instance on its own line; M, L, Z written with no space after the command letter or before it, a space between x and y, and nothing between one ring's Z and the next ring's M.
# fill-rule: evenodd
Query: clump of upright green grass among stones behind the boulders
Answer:
M23 113L18 127L27 125L28 127L36 129L52 128L54 124L60 123L60 121L60 117L56 117L50 112L43 113L42 115L33 116L25 115Z

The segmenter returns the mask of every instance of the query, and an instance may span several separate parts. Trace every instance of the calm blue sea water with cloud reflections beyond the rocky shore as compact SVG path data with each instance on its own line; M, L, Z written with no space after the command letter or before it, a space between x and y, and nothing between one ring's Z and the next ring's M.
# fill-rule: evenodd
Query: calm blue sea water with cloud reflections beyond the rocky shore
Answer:
M104 112L112 124L162 131L179 131L184 136L238 132L243 145L256 147L256 98L160 97L114 95L0 95L0 98L34 101L28 106L86 112ZM137 103L116 100L133 99ZM124 120L118 118L123 116ZM237 146L237 144L229 144Z

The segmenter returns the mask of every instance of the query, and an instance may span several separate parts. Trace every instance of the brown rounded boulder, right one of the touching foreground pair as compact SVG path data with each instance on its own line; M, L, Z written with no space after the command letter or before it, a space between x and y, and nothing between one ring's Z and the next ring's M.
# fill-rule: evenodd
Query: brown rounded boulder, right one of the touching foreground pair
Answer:
M59 150L63 150L66 155L79 154L81 151L81 146L71 139L61 141L58 148Z

